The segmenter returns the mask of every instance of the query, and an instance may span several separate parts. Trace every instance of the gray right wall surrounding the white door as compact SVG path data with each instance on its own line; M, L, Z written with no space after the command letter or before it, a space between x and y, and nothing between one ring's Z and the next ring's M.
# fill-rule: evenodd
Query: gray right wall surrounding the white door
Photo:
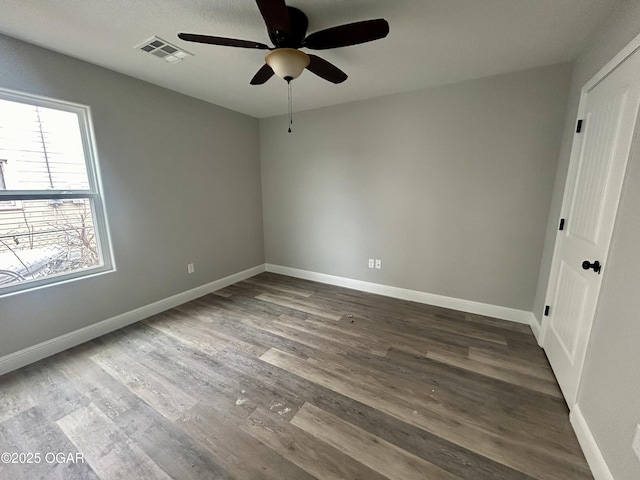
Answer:
M536 296L535 313L538 317L546 294L580 89L638 34L640 2L624 2L624 5L594 34L590 45L576 60ZM640 461L631 450L636 425L640 423L639 144L640 140L636 139L627 167L577 398L585 420L616 480L640 478Z

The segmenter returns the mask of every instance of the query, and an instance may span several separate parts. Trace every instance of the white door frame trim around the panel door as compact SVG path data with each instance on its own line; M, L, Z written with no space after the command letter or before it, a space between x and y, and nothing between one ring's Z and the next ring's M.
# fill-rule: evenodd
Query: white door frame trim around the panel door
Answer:
M578 106L578 114L574 122L574 128L578 120L584 118L584 111L586 108L586 99L589 92L593 90L600 82L602 82L611 72L613 72L616 68L618 68L620 64L622 64L625 60L627 60L629 57L631 57L634 54L640 55L640 34L637 35L631 42L629 42L622 50L620 50L618 54L616 54L609 62L607 62L607 64L604 67L602 67L598 71L598 73L596 73L591 78L591 80L589 80L582 87L582 89L580 90L580 104ZM640 121L640 120L637 120L637 121ZM581 155L583 139L584 139L584 135L577 135L576 133L573 133L573 140L571 144L571 154L569 156L569 167L567 169L567 178L565 180L564 191L562 194L562 206L560 207L560 215L556 219L558 222L560 221L560 218L564 218L566 216L566 213L567 213L566 209L568 208L567 196L569 195L569 192L572 191L573 184L577 180L576 178L576 173L577 173L576 168L577 168L577 160L578 160L577 157ZM626 166L625 166L625 169L626 169ZM622 192L620 192L620 194L622 194ZM616 217L620 207L620 196L621 195L619 195L618 198L616 199ZM554 242L553 256L551 260L551 272L549 274L549 280L547 282L547 290L545 294L546 305L549 305L550 295L555 291L555 285L556 285L556 282L558 281L559 269L557 268L557 264L558 264L559 250L560 250L558 247L561 241L561 235L559 234L559 230L557 230L559 225L558 222L556 222L556 226L555 226L556 239ZM607 252L607 257L609 256L610 250L611 250L611 243L609 244L609 252ZM606 275L606 269L605 269L605 275ZM597 311L598 311L598 307L596 305L595 312ZM591 319L591 325L589 327L589 335L585 340L587 342L587 347L585 348L584 355L582 356L582 358L577 359L579 360L578 372L577 372L578 388L576 389L575 398L565 399L570 409L573 408L574 404L576 403L578 392L580 391L580 380L582 377L584 362L589 352L588 343L591 337L591 331L593 330L593 323L596 317L595 312L594 312L594 317ZM550 318L543 315L542 324L540 327L540 341L539 341L539 344L540 346L542 346L542 348L545 347L545 343L546 343L545 340L549 332L549 323L550 323Z

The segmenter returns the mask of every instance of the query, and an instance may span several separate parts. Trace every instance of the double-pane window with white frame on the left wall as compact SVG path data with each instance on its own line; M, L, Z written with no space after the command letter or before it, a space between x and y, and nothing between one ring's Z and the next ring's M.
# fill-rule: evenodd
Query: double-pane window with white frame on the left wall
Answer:
M111 269L89 108L0 90L0 295Z

